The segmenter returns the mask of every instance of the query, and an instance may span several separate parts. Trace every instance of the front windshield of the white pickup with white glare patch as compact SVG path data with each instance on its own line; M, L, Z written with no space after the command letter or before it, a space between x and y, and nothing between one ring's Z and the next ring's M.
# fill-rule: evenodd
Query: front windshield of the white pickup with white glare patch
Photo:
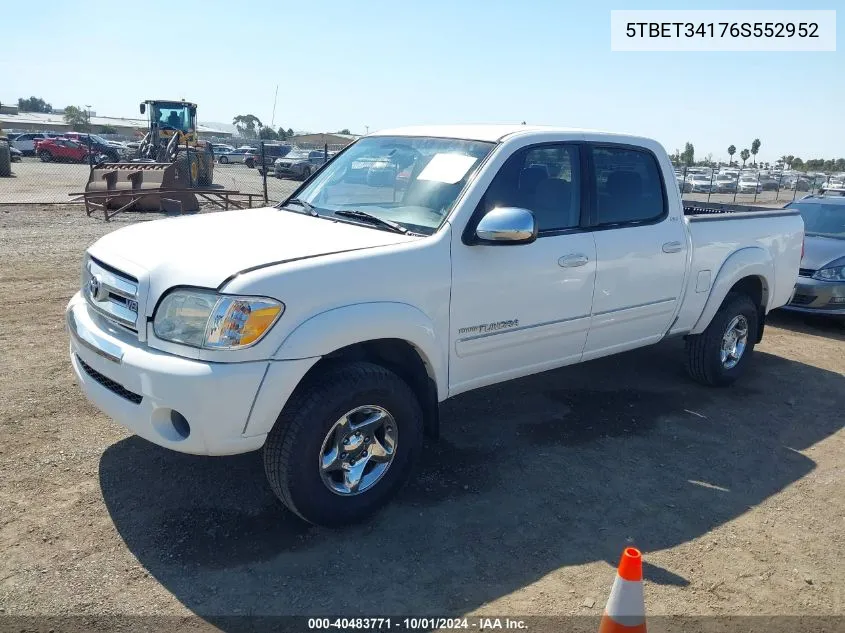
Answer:
M329 163L296 197L322 216L341 218L334 216L335 211L365 211L430 235L493 147L493 143L445 138L364 138Z

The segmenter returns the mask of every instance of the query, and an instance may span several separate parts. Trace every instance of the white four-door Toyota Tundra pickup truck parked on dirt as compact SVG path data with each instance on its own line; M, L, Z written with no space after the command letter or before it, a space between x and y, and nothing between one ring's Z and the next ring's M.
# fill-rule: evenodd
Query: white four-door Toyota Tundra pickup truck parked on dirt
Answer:
M387 502L461 392L669 336L693 378L731 383L790 300L802 245L794 210L685 210L649 139L389 130L278 207L97 241L67 307L70 359L141 437L263 447L276 495L337 525Z

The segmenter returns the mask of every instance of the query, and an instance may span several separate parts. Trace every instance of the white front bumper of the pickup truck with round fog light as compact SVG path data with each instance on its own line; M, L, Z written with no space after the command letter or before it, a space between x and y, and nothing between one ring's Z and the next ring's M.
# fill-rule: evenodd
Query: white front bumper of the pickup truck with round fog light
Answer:
M210 363L167 354L89 310L80 293L66 321L71 364L88 399L137 435L182 453L232 455L263 446L316 361Z

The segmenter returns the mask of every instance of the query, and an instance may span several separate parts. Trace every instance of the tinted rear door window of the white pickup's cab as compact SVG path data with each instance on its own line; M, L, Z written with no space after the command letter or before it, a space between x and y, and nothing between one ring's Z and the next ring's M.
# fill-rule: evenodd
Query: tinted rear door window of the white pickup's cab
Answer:
M596 223L646 224L666 215L660 168L644 149L593 146Z

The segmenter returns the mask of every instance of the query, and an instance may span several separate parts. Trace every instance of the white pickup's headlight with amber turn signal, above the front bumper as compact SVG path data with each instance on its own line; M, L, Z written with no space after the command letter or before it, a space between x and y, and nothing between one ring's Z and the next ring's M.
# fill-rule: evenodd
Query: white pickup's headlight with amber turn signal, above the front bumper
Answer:
M220 295L211 290L174 290L156 310L160 339L206 349L237 349L257 342L285 310L265 297Z

